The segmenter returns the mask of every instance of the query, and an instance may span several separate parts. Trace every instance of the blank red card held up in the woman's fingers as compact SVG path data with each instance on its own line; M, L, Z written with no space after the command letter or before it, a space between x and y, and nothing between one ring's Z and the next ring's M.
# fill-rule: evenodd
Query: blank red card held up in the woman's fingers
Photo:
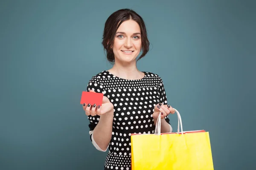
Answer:
M94 93L83 91L81 96L80 104L86 103L87 105L90 103L91 105L96 104L102 105L103 93Z

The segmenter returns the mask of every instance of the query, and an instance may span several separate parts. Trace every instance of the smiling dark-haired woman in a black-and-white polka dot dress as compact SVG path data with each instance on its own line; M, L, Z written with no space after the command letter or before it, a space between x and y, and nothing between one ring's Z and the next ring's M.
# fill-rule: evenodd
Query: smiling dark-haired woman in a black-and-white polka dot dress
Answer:
M143 19L130 9L108 17L102 45L113 68L93 76L87 91L103 93L102 106L84 103L90 121L90 139L100 151L109 149L105 170L131 169L131 134L154 133L161 114L161 133L172 132L162 79L151 72L139 71L136 58L148 52L149 42ZM138 59L138 60L139 60Z

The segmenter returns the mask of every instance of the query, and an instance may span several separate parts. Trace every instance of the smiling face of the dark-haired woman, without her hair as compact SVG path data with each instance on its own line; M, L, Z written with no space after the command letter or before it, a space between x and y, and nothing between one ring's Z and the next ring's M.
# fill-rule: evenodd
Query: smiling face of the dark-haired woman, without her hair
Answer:
M140 54L141 32L134 20L124 21L116 31L113 53L115 61L132 62Z

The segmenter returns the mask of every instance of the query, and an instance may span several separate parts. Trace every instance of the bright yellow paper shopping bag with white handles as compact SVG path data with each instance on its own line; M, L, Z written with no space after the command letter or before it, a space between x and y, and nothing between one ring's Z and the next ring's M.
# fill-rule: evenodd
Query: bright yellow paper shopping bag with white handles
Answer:
M159 116L155 134L131 135L132 170L213 170L209 132L183 131L180 113L175 111L177 133L160 133Z

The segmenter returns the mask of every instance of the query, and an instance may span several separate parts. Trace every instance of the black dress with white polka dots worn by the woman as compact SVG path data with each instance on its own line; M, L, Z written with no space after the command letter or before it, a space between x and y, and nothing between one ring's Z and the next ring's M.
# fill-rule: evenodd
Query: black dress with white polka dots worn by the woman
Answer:
M154 106L158 103L167 105L162 79L157 74L143 73L142 79L128 80L102 71L87 85L87 91L103 93L114 105L112 139L105 170L131 170L131 134L154 133ZM100 116L88 116L88 119L89 128L93 130ZM165 119L169 123L168 116Z

